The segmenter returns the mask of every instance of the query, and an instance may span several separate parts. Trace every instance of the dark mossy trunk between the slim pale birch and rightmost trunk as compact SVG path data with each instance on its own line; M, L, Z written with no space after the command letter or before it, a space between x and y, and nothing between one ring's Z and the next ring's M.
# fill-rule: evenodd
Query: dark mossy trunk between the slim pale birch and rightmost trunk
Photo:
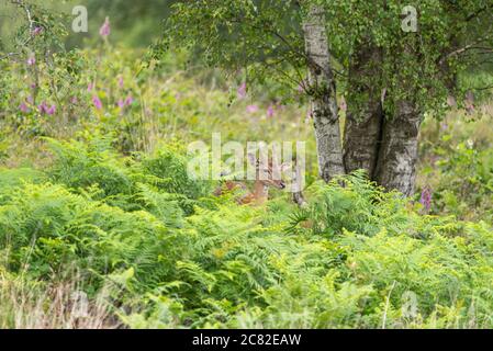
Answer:
M361 45L351 58L344 129L346 171L363 169L370 179L374 178L383 126L380 64L381 53L371 46Z

